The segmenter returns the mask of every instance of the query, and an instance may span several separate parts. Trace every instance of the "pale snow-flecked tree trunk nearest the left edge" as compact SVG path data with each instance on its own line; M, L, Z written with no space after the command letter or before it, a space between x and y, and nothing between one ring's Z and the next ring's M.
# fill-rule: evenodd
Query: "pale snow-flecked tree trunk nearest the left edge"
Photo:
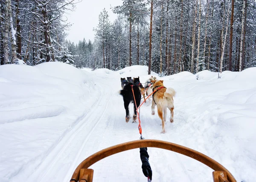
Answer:
M4 64L10 63L9 61L9 48L8 48L8 35L9 35L9 0L5 2L5 23L4 23L4 40L3 40L3 49L4 49Z

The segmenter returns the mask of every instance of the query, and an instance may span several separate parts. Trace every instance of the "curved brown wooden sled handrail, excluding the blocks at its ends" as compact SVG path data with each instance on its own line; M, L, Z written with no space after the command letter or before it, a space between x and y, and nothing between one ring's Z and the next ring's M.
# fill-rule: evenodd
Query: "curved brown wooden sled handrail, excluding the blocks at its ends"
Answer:
M87 159L81 162L79 166L76 168L76 170L74 171L72 179L78 180L80 169L88 168L91 165L93 165L95 162L98 162L99 160L104 159L105 157L111 156L113 154L116 154L122 151L128 151L134 148L142 148L142 147L163 148L169 151L174 151L179 154L189 156L195 160L198 160L199 162L204 163L205 165L212 168L214 171L225 171L227 173L227 179L230 182L236 182L236 179L233 177L233 175L226 168L224 168L221 164L219 164L212 158L198 151L192 150L190 148L186 148L181 145L177 145L175 143L166 142L162 140L154 140L154 139L135 140L135 141L126 142L126 143L122 143L119 145L115 145L115 146L103 149L102 151L99 151L89 156Z

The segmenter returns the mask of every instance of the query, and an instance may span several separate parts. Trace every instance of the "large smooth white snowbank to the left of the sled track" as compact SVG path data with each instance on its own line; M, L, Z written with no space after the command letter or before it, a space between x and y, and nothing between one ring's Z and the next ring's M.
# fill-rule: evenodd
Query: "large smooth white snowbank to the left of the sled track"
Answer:
M64 63L0 66L1 182L29 176L44 160L88 110L91 85L86 72Z

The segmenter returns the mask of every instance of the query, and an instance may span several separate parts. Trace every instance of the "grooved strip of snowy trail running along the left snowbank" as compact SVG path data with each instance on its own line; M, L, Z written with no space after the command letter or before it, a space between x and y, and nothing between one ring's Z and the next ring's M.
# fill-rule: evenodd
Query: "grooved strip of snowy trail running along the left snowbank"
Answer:
M104 83L102 84L97 84L101 86L95 89L97 90L96 101L90 107L90 111L79 118L79 121L72 127L72 130L61 139L33 175L29 176L28 181L32 182L36 179L38 181L38 176L40 182L50 181L50 176L56 176L57 179L62 179L63 171L70 171L70 168L76 168L75 165L80 163L78 159L81 158L82 151L84 149L87 150L88 140L93 138L95 133L99 132L96 129L99 128L98 125L104 117L111 96L113 95L111 91L103 93L104 86L106 85ZM65 163L62 161L65 161ZM63 171L60 171L60 174L56 173L56 168L61 168ZM68 181L70 172L64 181Z

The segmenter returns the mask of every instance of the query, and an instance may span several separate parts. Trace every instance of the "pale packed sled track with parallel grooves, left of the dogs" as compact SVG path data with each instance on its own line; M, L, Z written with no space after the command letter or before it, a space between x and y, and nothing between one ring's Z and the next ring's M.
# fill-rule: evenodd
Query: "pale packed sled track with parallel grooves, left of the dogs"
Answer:
M100 92L96 95L100 97L97 98L96 102L93 103L90 111L82 114L78 119L76 119L75 122L72 123L71 127L65 131L64 134L62 134L63 137L61 137L61 139L57 142L57 145L43 159L43 162L31 175L32 177L29 178L31 181L34 181L34 178L38 179L38 176L40 176L40 182L45 181L45 178L50 176L48 174L54 171L53 169L55 169L58 165L63 165L58 164L58 161L60 161L61 158L65 158L70 161L70 156L75 156L75 158L71 159L72 165L68 166L69 170L67 171L67 175L65 177L65 179L70 178L73 168L75 168L85 144L107 111L111 95L113 94L113 92L108 92L106 95L104 95L102 94L101 87L99 90ZM104 111L100 114L98 112L99 108L104 108ZM45 171L45 173L40 174L39 171Z

